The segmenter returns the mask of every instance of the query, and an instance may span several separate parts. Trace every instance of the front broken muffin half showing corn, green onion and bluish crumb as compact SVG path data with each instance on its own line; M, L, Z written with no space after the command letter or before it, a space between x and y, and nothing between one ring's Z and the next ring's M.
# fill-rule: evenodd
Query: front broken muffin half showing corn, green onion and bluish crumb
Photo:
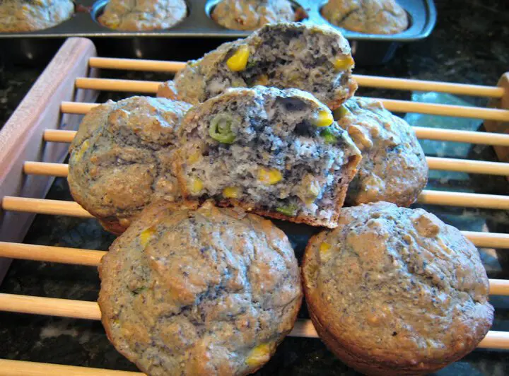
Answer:
M330 228L361 160L330 110L297 89L230 89L189 110L180 133L185 198Z

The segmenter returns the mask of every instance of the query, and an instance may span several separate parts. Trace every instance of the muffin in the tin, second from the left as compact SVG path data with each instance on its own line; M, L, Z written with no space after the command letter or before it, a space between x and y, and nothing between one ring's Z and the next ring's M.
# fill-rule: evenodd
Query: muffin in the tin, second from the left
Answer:
M110 0L98 21L115 30L159 30L177 25L186 15L184 0Z

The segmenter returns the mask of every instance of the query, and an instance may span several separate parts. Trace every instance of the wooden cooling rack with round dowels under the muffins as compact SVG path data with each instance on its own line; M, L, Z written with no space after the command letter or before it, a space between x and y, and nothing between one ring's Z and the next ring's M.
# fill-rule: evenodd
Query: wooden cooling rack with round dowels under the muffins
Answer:
M0 131L0 257L41 262L97 266L105 254L74 249L23 244L35 214L92 217L73 201L43 199L54 177L66 177L69 142L83 114L96 104L98 91L155 94L159 82L97 78L97 69L175 72L184 63L95 56L93 42L70 38L47 66L33 88ZM464 85L400 78L355 75L359 86L394 90L421 90L490 98L488 108L435 105L380 98L388 110L483 119L488 132L414 127L419 139L465 142L493 146L500 160L507 160L509 134L509 74L498 86ZM496 133L492 133L496 131ZM431 170L509 176L509 163L427 157ZM509 196L425 190L420 204L469 208L509 209ZM509 249L509 234L462 231L476 247ZM0 268L0 278L1 274ZM509 281L490 279L491 295L509 295ZM0 310L37 315L100 319L96 302L0 294ZM317 337L310 320L298 320L290 336ZM480 348L509 349L509 331L489 331ZM138 372L101 370L68 365L0 360L0 375L141 375Z

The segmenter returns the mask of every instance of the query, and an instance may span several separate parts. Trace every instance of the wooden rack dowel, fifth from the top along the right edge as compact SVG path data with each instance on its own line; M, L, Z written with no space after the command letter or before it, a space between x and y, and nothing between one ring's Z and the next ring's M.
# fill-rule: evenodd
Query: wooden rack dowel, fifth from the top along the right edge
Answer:
M509 196L464 192L424 190L417 201L420 204L464 206L465 208L486 208L509 210Z

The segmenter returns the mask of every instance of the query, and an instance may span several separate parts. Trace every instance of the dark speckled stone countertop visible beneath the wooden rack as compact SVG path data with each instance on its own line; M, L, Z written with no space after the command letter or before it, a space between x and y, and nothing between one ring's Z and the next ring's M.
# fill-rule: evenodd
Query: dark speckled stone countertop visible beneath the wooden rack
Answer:
M509 71L509 5L506 0L437 0L438 23L433 35L424 42L400 48L394 59L385 66L358 67L358 74L377 74L443 80L462 83L494 85L505 71ZM168 40L168 48L170 48ZM189 51L189 58L196 57ZM5 64L0 69L0 124L11 114L23 98L42 67L19 68ZM106 72L108 77L163 80L162 74L120 74ZM461 102L485 105L483 99L454 98L430 93L389 92L387 90L359 90L359 95L406 98L435 102ZM119 99L127 94L102 95ZM463 103L463 102L461 102ZM412 124L482 130L481 122L450 118L410 115ZM426 141L428 155L455 158L495 160L486 146L471 146ZM503 177L432 172L428 189L460 190L486 194L509 194ZM52 199L70 200L63 179L57 179L49 192ZM472 208L428 207L445 222L460 230L508 233L509 216L505 211ZM279 223L296 247L298 257L311 228ZM59 216L37 216L25 242L60 245L88 249L107 249L114 237L105 233L94 220ZM509 278L509 250L481 249L483 261L491 278ZM95 268L43 262L14 261L4 283L2 293L95 300L99 288ZM509 331L509 298L492 297L496 307L494 330ZM301 317L307 317L303 309ZM83 365L95 368L136 370L119 356L110 345L99 322L78 319L59 319L33 315L0 313L0 358L32 360L46 363ZM437 375L507 375L509 352L477 350L469 356L441 370ZM335 359L317 339L288 338L276 356L259 375L356 375Z

